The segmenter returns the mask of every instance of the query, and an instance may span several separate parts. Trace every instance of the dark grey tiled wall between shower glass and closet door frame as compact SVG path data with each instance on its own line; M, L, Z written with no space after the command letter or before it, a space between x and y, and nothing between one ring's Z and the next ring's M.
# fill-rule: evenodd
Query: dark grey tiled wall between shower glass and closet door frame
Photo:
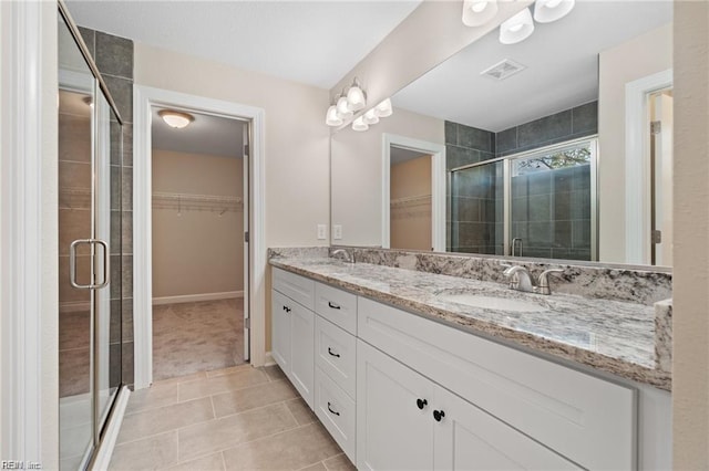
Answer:
M117 254L112 253L111 257L111 276L122 280L122 293L119 290L111 292L111 308L113 311L115 304L123 300L123 325L121 343L113 342L111 348L121 348L123 383L133 385L133 41L86 28L80 27L79 30L123 119L123 161L111 161L111 180L121 181L120 188L117 185L111 188L111 200L116 201L111 208L111 219L121 219L123 239L122 264ZM114 154L111 155L113 158ZM122 171L120 179L113 178L117 171ZM121 193L120 199L117 192ZM121 207L117 201L121 201ZM115 243L112 245L117 247ZM116 357L111 355L111 358Z

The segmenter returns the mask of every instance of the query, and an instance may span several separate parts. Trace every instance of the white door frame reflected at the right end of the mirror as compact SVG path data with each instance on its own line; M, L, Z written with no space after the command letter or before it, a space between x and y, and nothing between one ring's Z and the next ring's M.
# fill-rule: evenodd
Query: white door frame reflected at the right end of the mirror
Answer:
M625 263L650 263L650 161L647 94L672 86L672 70L625 85Z

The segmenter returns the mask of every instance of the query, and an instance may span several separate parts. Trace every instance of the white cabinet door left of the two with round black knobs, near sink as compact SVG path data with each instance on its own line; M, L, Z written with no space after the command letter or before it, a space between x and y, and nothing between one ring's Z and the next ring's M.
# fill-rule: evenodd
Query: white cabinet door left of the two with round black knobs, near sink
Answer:
M429 379L358 341L357 468L433 469L432 396Z

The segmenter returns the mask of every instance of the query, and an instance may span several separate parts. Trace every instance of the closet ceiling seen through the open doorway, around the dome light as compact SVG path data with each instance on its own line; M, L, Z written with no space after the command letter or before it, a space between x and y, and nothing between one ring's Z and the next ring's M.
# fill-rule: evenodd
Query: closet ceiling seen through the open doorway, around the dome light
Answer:
M244 156L244 122L189 112L195 121L183 129L175 129L157 115L160 109L152 109L153 148L220 157Z

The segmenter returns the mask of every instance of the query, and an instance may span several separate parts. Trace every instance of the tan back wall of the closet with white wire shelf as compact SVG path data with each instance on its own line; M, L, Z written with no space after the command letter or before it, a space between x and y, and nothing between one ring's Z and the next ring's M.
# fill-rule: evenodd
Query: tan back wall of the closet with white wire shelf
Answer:
M154 193L185 195L176 208L153 201L153 297L243 291L243 206L222 213L188 200L243 197L243 159L153 149L152 164Z

